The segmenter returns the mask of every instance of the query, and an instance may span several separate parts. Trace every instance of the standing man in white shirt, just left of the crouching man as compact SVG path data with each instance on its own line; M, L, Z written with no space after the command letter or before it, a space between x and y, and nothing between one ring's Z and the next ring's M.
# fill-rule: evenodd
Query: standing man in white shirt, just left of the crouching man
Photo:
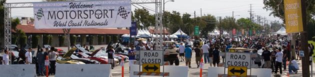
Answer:
M275 71L274 73L276 73L278 71L279 68L279 72L280 74L282 74L282 58L283 58L283 53L281 51L281 48L278 49L279 51L275 54L276 56L276 62L275 62Z

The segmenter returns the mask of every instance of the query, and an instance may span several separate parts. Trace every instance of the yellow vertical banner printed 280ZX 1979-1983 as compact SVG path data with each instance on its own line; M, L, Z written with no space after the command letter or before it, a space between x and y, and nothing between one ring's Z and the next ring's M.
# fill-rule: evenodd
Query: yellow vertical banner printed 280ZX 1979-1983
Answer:
M303 31L301 0L284 0L286 33Z

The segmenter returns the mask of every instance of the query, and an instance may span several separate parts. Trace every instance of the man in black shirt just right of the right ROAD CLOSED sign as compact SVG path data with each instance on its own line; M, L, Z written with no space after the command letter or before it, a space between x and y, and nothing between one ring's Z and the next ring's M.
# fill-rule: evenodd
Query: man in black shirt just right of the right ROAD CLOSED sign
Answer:
M271 61L270 61L270 55L271 52L268 50L269 47L264 47L264 51L262 51L261 56L264 60L264 68L271 68Z

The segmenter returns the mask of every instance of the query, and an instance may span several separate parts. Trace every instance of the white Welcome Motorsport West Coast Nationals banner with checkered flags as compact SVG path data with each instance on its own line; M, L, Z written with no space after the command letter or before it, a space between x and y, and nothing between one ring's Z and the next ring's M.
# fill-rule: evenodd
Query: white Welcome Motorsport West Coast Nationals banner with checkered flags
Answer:
M131 0L34 2L35 28L131 26Z

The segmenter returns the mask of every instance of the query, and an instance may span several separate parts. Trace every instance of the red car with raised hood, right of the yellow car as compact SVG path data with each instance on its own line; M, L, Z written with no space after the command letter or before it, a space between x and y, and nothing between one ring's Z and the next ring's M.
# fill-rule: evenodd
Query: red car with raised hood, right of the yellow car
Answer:
M95 53L97 51L94 51ZM100 64L108 64L107 59L105 58L98 58L98 57L94 57L95 53L91 53L91 55L87 55L84 52L77 52L77 53L73 53L74 55L76 55L77 57L81 57L81 58L90 58L90 59L94 59L100 62Z

